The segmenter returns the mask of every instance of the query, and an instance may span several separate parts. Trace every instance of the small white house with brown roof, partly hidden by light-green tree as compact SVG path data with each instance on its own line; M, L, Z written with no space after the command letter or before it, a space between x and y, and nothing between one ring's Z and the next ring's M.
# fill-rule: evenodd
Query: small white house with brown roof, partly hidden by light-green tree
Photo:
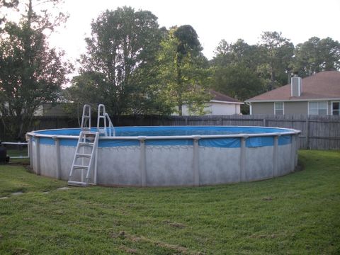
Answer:
M235 98L221 94L217 91L209 91L212 99L207 103L205 115L232 115L241 113L241 105L244 104ZM182 106L182 115L190 115L188 106Z

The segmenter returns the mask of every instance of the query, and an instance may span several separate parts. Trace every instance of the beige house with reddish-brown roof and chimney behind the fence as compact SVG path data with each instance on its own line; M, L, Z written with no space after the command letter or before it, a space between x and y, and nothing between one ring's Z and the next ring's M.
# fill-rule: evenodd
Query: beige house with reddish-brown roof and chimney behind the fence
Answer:
M245 101L250 114L340 115L340 72L319 72Z

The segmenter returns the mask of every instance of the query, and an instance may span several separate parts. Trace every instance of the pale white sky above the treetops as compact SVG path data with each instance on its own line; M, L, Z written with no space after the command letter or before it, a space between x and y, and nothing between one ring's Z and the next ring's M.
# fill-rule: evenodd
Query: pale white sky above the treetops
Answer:
M263 31L281 32L294 45L312 36L340 41L340 0L64 0L60 9L69 19L50 35L50 44L75 61L86 50L91 21L121 6L151 11L166 28L193 26L209 60L220 40L253 45Z

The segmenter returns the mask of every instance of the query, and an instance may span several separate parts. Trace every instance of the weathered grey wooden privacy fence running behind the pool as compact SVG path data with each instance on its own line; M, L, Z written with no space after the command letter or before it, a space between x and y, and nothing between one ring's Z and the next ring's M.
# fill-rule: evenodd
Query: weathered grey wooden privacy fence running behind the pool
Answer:
M115 126L140 125L244 125L301 130L300 149L340 149L340 116L335 115L128 115L111 118ZM77 118L36 117L30 130L77 128ZM96 119L92 120L96 125Z

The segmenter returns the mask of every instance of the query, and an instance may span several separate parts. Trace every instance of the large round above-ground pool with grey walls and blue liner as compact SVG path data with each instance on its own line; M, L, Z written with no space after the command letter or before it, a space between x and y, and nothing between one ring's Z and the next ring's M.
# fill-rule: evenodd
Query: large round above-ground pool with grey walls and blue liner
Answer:
M96 128L91 130L96 131ZM28 132L36 174L68 180L80 128ZM115 128L98 140L91 183L200 186L283 176L297 165L298 130L234 126Z

